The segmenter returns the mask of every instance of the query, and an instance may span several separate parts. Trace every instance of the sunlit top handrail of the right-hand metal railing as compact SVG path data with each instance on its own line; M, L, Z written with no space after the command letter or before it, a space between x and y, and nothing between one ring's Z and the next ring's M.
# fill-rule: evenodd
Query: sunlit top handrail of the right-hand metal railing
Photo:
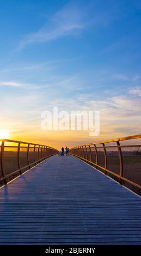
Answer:
M108 141L100 141L100 142L93 142L93 143L77 145L76 147L84 147L84 146L88 146L88 145L98 145L98 144L117 142L117 141L128 141L129 139L140 139L140 138L141 138L141 135L139 134L139 135L121 137L121 138L117 138L117 139L109 139ZM76 147L73 147L71 149L75 149Z

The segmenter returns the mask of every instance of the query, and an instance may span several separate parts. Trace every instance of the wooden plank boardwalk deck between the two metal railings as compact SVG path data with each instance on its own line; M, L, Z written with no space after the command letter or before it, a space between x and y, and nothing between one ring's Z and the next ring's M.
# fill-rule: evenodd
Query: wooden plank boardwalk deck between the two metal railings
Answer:
M0 190L1 245L141 245L141 199L73 156Z

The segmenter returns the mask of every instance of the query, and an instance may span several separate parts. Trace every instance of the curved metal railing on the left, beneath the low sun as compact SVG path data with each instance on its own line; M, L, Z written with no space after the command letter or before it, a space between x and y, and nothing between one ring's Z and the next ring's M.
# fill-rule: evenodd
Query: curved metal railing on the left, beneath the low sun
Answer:
M46 145L0 139L0 185L21 175L27 169L58 154L58 150Z

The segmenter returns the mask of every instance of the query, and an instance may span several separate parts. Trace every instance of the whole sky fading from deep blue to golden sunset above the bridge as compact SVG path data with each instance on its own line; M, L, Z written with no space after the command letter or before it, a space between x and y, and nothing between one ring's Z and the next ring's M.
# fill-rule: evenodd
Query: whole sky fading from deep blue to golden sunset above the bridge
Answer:
M55 145L59 132L40 131L53 106L100 111L100 136L72 132L70 145L141 133L140 1L1 0L0 24L0 125L11 138Z

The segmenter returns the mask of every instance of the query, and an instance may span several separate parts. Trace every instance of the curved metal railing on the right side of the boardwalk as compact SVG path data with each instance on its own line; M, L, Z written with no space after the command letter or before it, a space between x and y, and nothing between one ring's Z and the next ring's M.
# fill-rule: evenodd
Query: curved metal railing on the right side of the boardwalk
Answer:
M141 144L120 142L140 139L141 135L89 143L71 148L70 154L93 165L121 185L141 195Z

